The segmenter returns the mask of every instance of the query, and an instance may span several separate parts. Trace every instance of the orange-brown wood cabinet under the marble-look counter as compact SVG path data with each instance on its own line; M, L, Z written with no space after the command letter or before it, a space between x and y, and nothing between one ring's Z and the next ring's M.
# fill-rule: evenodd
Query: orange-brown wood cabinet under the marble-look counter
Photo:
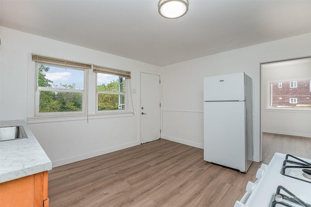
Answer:
M49 207L48 171L0 183L0 207Z

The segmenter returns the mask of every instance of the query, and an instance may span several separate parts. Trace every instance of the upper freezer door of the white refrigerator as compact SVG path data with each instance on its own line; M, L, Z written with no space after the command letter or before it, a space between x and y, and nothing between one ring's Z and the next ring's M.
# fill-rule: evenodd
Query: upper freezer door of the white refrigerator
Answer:
M244 73L204 78L204 101L245 100Z

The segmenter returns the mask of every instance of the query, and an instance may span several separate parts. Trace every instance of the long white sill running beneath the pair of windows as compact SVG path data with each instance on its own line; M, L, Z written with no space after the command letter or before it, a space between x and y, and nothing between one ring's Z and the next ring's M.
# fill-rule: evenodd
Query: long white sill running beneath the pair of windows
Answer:
M132 117L132 116L134 116L133 112L89 114L88 116L87 115L37 116L37 117L27 117L27 124L52 123L62 121L88 121L96 119Z

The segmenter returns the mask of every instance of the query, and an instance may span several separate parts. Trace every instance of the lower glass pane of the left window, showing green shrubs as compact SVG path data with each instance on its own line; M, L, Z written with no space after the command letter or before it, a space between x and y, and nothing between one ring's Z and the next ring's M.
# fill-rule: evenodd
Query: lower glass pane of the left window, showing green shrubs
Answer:
M82 111L82 94L40 91L39 112Z

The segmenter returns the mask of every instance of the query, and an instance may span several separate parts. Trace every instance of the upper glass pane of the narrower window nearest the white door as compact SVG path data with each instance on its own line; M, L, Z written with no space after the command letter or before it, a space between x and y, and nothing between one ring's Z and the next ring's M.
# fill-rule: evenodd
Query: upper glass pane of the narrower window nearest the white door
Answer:
M125 92L125 78L97 73L97 91Z

